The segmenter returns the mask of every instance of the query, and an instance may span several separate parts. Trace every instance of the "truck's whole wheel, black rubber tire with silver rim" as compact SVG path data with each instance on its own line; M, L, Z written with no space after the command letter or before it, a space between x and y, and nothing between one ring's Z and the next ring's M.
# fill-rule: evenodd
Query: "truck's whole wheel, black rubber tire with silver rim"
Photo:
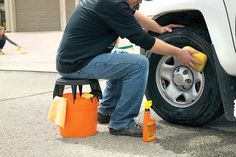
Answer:
M209 41L187 27L158 38L179 48L191 46L205 53L208 61L204 71L197 72L175 57L147 52L146 97L153 101L153 110L168 122L189 126L201 126L221 116L224 111Z

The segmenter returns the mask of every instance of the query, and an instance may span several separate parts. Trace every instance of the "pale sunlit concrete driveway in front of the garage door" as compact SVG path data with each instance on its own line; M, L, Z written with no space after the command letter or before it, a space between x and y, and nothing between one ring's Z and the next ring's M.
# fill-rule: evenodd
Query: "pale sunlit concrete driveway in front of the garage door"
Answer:
M22 46L16 51L14 45L6 42L0 55L0 70L44 71L56 72L56 53L63 32L30 32L7 33L10 39ZM130 45L127 39L120 40L120 46ZM139 52L138 47L128 49L129 52ZM27 52L27 54L20 54Z

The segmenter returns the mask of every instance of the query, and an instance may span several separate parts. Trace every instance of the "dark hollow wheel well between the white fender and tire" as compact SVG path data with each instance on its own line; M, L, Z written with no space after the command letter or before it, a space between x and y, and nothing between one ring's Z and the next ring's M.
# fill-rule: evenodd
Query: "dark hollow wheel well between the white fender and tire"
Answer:
M172 24L181 24L187 27L197 28L196 31L197 30L201 31L196 33L204 37L208 42L212 43L205 19L202 13L198 10L166 13L157 17L154 20L162 26L172 23ZM158 36L154 32L149 32L149 34Z

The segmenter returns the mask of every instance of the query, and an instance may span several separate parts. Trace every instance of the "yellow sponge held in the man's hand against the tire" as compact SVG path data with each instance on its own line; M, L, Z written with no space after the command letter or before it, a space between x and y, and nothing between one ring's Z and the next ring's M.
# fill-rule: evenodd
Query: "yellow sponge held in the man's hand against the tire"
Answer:
M197 68L197 71L202 72L204 70L206 62L207 62L207 56L204 53L192 48L191 46L185 46L185 47L183 47L183 49L185 49L185 50L195 50L195 51L198 52L198 53L192 54L192 56L202 63L201 65L194 64Z

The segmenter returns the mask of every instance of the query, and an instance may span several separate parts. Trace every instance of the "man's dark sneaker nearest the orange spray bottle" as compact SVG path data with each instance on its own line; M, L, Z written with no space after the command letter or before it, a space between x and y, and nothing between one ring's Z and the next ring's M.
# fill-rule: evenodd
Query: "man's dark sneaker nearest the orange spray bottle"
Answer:
M143 128L140 125L135 125L130 128L125 128L121 130L116 130L113 128L109 128L109 132L112 135L117 136L132 136L132 137L143 137Z

